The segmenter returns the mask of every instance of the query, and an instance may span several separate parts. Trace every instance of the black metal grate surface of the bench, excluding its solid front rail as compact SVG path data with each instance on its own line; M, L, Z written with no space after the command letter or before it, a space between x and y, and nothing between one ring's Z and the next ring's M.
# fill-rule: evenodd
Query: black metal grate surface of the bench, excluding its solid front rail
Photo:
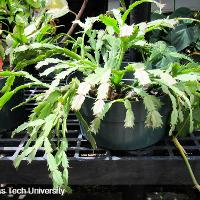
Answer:
M70 160L182 160L180 154L169 138L158 142L154 146L135 151L111 151L102 148L93 150L90 143L82 136L79 122L71 114L68 120L68 157ZM56 138L54 140L56 142ZM200 132L196 131L188 137L179 139L190 160L200 161ZM14 160L27 142L25 133L18 134L11 139L11 133L0 133L0 160ZM44 149L40 148L35 160L45 160Z

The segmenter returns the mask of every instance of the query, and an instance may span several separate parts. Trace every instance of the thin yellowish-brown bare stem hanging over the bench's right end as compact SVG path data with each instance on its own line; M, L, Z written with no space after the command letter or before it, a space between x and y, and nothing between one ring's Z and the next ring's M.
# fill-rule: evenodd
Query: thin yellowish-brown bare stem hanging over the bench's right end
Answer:
M173 136L173 137L172 137L172 141L173 141L173 143L175 144L175 146L177 147L177 149L179 150L179 152L180 152L180 154L181 154L183 160L185 161L186 167L187 167L187 169L188 169L188 171L189 171L189 173L190 173L190 176L191 176L191 178L192 178L192 182L193 182L193 184L194 184L194 187L200 192L200 185L198 184L198 182L197 182L197 180L196 180L196 178L195 178L195 176L194 176L194 173L193 173L193 171L192 171L192 168L191 168L191 166L190 166L190 163L189 163L189 161L188 161L188 158L187 158L187 155L186 155L186 152L185 152L184 148L183 148L182 145L179 143L179 141L178 141L178 139L177 139L176 137Z

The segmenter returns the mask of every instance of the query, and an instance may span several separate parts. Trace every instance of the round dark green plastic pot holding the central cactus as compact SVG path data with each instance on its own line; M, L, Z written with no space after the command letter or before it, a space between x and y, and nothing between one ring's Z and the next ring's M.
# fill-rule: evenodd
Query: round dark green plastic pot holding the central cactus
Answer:
M168 130L167 122L171 106L166 96L160 99L163 103L162 108L159 110L163 126L157 129L145 127L147 112L142 101L132 102L132 109L135 115L134 128L124 127L126 115L124 104L114 103L101 121L99 132L95 135L97 146L110 150L136 150L151 146L163 139ZM94 102L94 98L87 97L82 106L81 114L87 123L94 119L91 110ZM82 125L81 131L86 136Z

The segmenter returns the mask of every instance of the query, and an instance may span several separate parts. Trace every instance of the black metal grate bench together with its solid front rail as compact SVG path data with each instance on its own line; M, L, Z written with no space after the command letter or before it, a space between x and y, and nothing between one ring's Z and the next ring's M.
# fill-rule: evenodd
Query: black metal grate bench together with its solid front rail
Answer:
M26 91L27 96L39 91ZM29 103L27 111L34 107ZM190 185L191 180L180 154L169 138L154 146L136 151L93 150L82 136L79 122L71 113L67 122L70 161L70 184L74 185ZM0 183L50 184L44 149L27 166L23 160L16 170L13 160L27 142L26 133L10 138L11 133L0 133ZM54 139L56 142L56 138ZM200 131L180 138L197 179L200 180Z

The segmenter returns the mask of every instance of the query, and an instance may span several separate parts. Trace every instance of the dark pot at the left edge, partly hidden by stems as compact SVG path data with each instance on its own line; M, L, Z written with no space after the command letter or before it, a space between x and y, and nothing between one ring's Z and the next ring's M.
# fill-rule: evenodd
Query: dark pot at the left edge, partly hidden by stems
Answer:
M4 87L7 78L0 78L0 90ZM14 88L23 84L22 78L16 78ZM0 97L2 97L0 92ZM25 117L24 106L12 110L15 106L24 101L24 91L16 93L0 110L0 131L10 131L22 124Z

